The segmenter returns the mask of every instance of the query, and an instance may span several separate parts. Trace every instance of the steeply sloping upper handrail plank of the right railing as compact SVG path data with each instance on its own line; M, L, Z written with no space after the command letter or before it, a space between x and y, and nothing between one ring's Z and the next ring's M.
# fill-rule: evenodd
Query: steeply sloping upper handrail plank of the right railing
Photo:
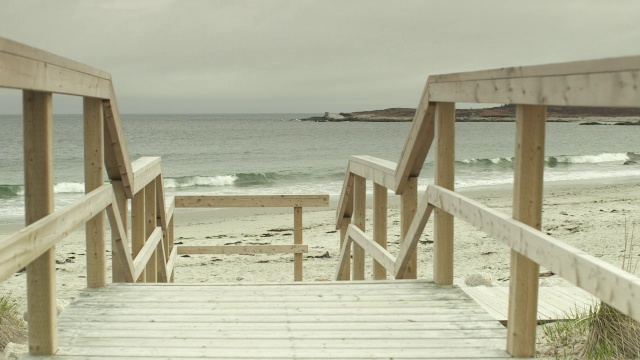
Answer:
M413 118L409 137L396 168L396 194L402 194L410 177L418 177L434 138L435 104L429 103L427 83Z

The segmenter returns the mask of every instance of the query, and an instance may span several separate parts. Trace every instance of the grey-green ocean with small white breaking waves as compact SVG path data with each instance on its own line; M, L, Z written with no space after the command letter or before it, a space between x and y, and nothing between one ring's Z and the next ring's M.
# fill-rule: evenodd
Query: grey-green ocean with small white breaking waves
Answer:
M411 127L408 122L298 120L317 115L122 118L132 160L162 157L167 194L325 193L337 198L350 155L396 162ZM22 116L0 115L0 129L0 223L20 223L24 221ZM511 184L514 139L515 123L456 123L456 187ZM640 126L548 123L545 180L640 179L639 139ZM623 165L629 160L639 165ZM54 175L56 208L82 196L82 115L54 115ZM420 188L432 177L430 154Z

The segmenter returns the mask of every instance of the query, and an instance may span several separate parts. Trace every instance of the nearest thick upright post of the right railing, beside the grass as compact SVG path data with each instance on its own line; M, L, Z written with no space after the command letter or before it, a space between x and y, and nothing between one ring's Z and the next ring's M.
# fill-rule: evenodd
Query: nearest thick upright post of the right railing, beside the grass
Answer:
M516 108L513 218L536 229L542 222L546 116L545 106ZM507 351L514 357L535 353L539 271L537 263L511 251Z

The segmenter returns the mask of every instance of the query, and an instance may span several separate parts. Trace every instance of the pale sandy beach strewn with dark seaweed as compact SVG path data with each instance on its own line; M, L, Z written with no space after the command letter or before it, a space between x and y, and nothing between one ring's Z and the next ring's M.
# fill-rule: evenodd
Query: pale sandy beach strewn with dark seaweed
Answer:
M463 193L501 212L511 213L510 189L475 189ZM397 253L400 240L400 211L395 198L390 197L388 220L392 254ZM293 243L293 215L289 209L178 211L175 216L175 241L178 244ZM371 219L370 213L367 218ZM305 209L303 241L309 245L309 252L304 254L304 281L333 280L339 255L339 232L335 230L334 221L335 204L330 208ZM546 186L543 230L614 265L622 264L625 225L631 231L633 222L638 224L636 228L640 227L640 182L637 180ZM19 228L19 225L1 225L0 239ZM370 233L370 222L366 230ZM636 229L638 231L640 229ZM635 239L638 239L637 235ZM432 240L430 220L420 239L420 278L432 278ZM72 301L86 283L84 228L60 242L56 254L58 297ZM110 255L109 252L109 259ZM476 273L490 275L493 286L508 286L509 249L456 220L455 283L465 286L465 277ZM370 258L367 259L367 274L371 274ZM293 255L184 255L178 259L175 279L182 283L293 281ZM558 276L542 277L540 281L542 285L570 285ZM0 293L12 294L22 302L22 307L26 306L25 292L25 273L17 273L0 284Z

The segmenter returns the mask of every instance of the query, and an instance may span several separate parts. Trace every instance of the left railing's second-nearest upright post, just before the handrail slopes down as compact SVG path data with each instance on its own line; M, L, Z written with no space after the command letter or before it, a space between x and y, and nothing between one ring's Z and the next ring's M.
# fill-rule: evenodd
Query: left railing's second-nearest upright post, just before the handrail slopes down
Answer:
M104 184L104 125L102 100L85 97L84 107L84 192ZM107 253L104 241L104 211L85 224L87 287L107 285ZM112 257L117 257L112 253Z

